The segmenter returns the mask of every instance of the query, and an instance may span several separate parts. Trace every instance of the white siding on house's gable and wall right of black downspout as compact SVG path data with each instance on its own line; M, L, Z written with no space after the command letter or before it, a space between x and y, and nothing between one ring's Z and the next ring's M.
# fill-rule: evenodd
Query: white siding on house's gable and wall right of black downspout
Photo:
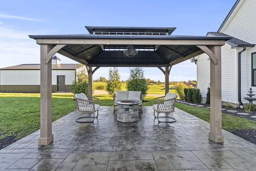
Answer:
M234 15L228 26L220 30L225 34L234 36L251 44L256 44L256 3L255 0L245 0ZM237 54L242 48L237 49ZM241 54L241 101L248 103L243 97L247 97L249 88L256 91L256 87L252 86L252 66L251 55L256 52L256 48L247 48Z

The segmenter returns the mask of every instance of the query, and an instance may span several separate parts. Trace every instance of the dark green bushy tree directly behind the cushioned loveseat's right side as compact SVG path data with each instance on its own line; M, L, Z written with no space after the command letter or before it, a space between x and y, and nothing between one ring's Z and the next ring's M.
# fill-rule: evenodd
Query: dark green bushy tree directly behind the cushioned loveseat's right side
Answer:
M141 91L143 96L147 94L149 87L144 78L144 71L142 68L130 68L130 76L127 80L126 89L128 91Z

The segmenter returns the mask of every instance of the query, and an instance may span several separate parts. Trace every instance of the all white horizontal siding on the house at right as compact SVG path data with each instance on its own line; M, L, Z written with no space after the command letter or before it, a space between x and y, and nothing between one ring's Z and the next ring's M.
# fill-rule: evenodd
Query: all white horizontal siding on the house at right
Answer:
M228 22L219 30L220 33L228 34L250 44L256 44L256 1L255 0L241 0L230 15ZM243 48L231 49L231 46L226 44L222 46L222 101L229 101L233 103L238 102L238 53ZM248 103L244 97L247 97L249 88L256 92L256 86L252 86L252 66L251 55L256 52L256 47L247 48L241 54L241 101ZM203 56L198 56L198 61ZM201 66L205 65L205 66ZM209 64L200 64L198 62L198 88L206 89L206 79L210 69ZM200 71L205 68L205 71ZM204 85L205 84L205 85ZM202 93L203 95L203 93Z

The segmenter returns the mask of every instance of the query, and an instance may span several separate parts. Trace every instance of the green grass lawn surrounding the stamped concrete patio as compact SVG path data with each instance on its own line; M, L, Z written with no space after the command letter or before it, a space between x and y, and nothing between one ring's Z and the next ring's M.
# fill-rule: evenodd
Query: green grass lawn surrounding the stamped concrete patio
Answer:
M113 106L110 95L95 95L100 98L101 106ZM144 106L151 106L154 96L146 96ZM182 109L205 121L210 121L210 109L176 103ZM52 94L52 121L76 110L72 94ZM222 128L256 129L256 121L222 113ZM0 93L0 139L14 135L21 139L40 129L40 94L39 93Z

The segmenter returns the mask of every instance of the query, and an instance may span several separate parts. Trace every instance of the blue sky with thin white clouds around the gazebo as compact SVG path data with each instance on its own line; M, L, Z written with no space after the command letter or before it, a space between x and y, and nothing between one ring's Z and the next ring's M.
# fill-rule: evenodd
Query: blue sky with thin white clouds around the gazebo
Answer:
M39 64L40 46L28 35L89 34L84 26L176 27L172 35L216 32L236 0L0 0L0 68ZM61 64L76 64L56 54ZM118 68L121 80L129 68ZM94 80L108 78L100 68ZM145 78L164 82L158 68L143 68ZM172 67L170 81L196 80L190 60Z

